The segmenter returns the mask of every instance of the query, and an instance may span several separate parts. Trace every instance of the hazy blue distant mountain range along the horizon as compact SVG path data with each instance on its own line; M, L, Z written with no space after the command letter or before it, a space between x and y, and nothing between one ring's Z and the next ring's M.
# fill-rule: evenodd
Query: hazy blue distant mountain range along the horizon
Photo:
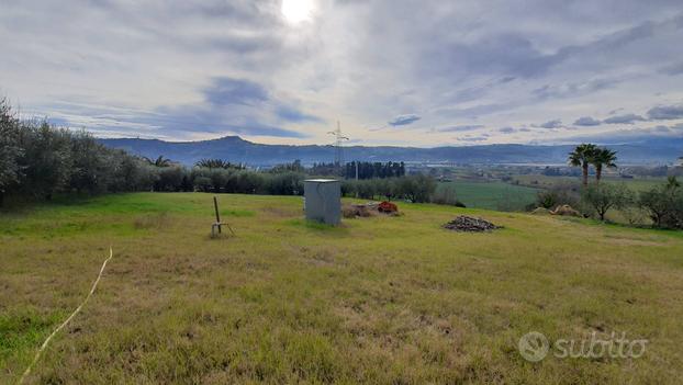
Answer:
M291 162L295 159L304 165L332 162L335 148L332 146L262 145L244 140L238 136L225 136L212 140L164 141L159 139L99 139L105 146L121 148L131 154L156 158L164 156L191 166L202 158L220 158L231 162L268 167ZM446 163L566 163L570 145L482 145L467 147L393 147L349 146L344 148L347 161L405 161ZM619 163L673 163L683 155L683 138L652 137L637 143L609 145L617 151Z

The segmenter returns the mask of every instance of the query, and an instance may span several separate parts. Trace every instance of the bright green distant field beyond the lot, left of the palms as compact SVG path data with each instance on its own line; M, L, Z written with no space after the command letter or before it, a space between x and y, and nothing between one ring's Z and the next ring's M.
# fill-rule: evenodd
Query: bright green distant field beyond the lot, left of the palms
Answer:
M468 207L499 211L524 211L538 193L537 189L500 181L455 180L439 183L438 189L455 189L458 201Z

